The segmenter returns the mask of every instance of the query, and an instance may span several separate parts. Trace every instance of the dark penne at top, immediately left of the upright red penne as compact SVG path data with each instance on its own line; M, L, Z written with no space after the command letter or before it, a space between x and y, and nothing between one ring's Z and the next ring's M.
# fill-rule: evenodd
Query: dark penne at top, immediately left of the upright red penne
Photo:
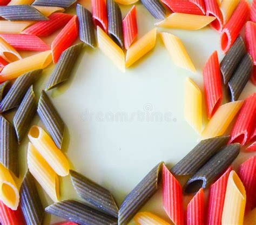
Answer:
M77 17L79 23L79 38L85 44L96 47L96 37L92 22L92 13L82 5L77 4Z

